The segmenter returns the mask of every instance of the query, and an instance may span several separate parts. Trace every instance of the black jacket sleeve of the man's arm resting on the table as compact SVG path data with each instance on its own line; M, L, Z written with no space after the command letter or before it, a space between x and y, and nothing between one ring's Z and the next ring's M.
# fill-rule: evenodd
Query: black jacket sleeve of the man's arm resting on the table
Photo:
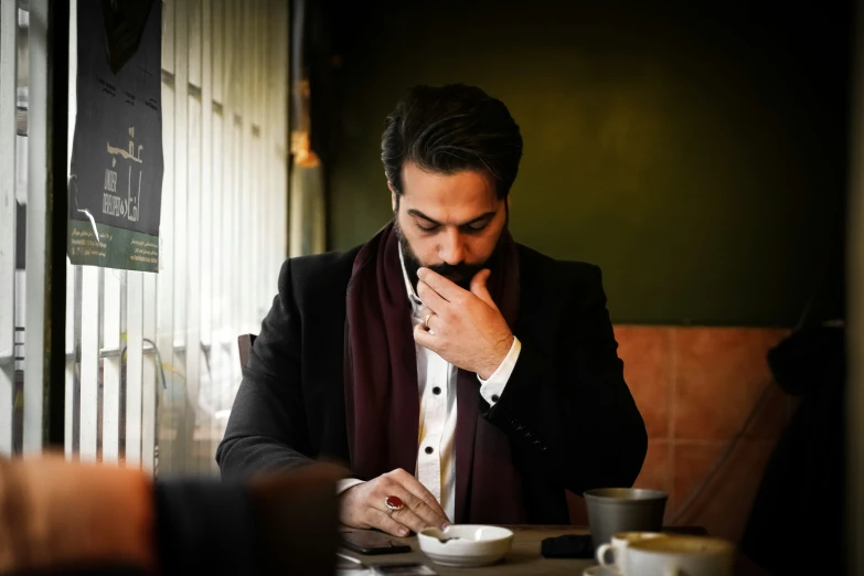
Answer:
M300 388L300 314L291 260L286 260L279 294L243 369L216 461L227 479L310 463L309 454Z

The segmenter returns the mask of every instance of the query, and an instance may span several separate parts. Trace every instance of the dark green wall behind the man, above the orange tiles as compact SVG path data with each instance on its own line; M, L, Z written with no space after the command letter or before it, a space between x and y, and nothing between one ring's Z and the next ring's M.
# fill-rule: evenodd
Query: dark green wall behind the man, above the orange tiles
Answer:
M378 154L395 102L465 82L522 129L514 236L600 265L616 322L797 322L842 246L842 14L402 4L334 24L331 248L391 216ZM831 313L832 273L818 305Z

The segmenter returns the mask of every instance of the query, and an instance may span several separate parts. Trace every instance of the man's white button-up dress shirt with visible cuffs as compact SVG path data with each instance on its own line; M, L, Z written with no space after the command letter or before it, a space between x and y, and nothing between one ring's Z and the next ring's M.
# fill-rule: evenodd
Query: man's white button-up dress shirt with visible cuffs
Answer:
M405 270L405 262L399 250L402 274L405 288L412 303L412 327L423 323L420 317L423 302L414 291ZM420 398L420 422L417 436L417 468L414 476L444 509L450 522L455 521L456 510L456 378L459 369L444 360L431 350L415 343L417 351L417 384ZM510 375L519 360L522 344L513 337L513 345L489 380L480 381L480 395L490 405L498 402L504 392ZM362 483L362 480L346 479L339 482L338 492Z

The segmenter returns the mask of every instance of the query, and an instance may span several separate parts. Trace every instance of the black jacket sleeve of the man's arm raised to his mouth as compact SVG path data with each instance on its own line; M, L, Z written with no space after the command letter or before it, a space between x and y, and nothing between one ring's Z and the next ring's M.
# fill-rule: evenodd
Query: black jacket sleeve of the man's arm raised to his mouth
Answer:
M565 319L555 351L519 337L522 352L506 388L483 416L509 433L524 460L567 490L630 487L648 435L623 380L598 267L591 266L572 301L579 305Z

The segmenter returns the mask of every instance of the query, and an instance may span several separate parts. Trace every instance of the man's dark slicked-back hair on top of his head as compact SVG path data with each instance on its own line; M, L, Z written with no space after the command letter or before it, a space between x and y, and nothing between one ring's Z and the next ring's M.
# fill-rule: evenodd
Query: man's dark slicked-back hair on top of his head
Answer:
M387 116L381 137L384 173L402 194L406 161L430 172L482 170L506 198L519 172L522 135L499 99L476 86L415 86Z

